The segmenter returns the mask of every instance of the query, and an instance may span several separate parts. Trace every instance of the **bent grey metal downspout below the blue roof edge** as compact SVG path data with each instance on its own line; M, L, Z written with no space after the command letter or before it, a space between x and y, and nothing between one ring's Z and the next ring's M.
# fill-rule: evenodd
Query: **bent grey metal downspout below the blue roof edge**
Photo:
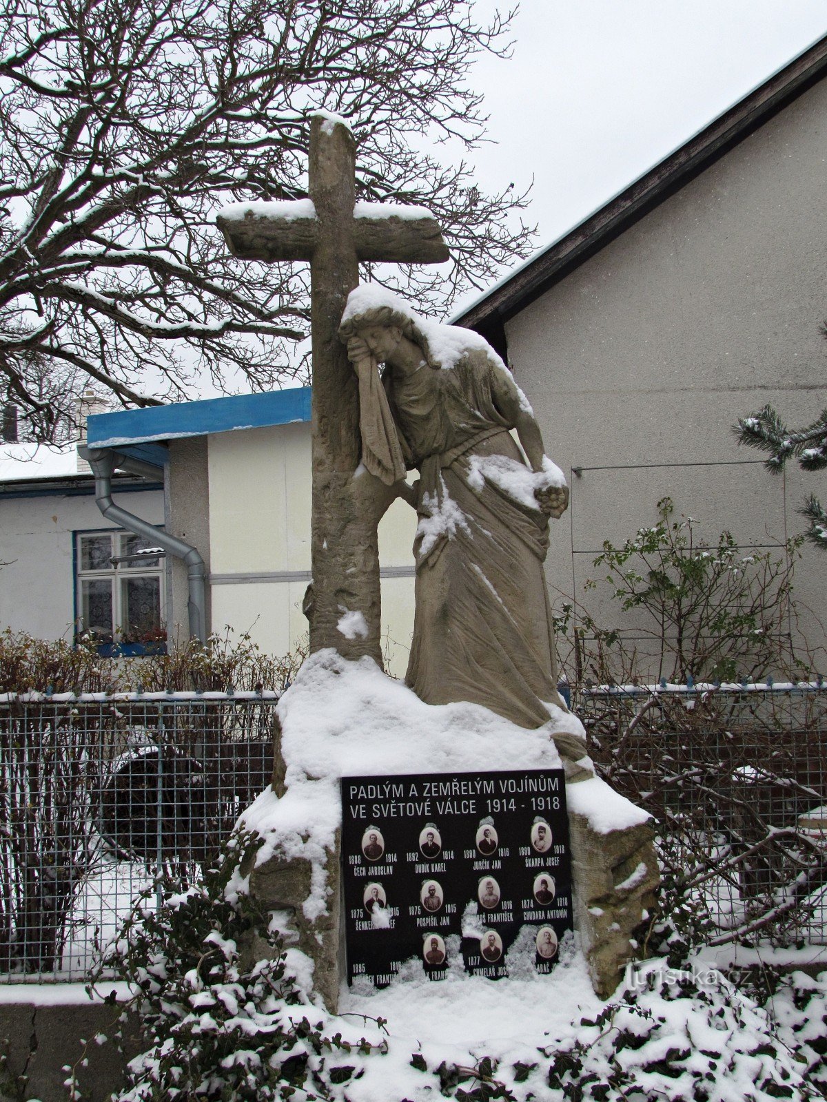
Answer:
M194 547L184 543L175 536L170 536L162 528L155 528L149 521L136 517L132 512L127 512L112 501L112 475L116 467L131 471L133 474L144 477L158 477L155 467L140 460L132 460L120 455L111 449L78 447L78 453L92 467L95 475L95 503L101 514L117 523L120 528L126 528L128 532L142 536L152 540L158 547L162 547L169 554L182 559L186 563L187 584L190 599L186 612L190 622L190 638L200 639L206 642L206 566L201 554Z

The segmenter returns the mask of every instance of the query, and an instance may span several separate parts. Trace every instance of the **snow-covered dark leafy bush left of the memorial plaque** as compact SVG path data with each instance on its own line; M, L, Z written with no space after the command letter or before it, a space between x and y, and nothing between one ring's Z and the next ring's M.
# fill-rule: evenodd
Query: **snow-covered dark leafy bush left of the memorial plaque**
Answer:
M147 1050L128 1065L119 1102L264 1102L297 1090L330 1098L355 1071L346 1060L352 1050L374 1047L352 1046L341 1034L329 1037L320 1020L325 1015L313 1011L310 1020L303 1013L291 951L282 951L255 900L233 889L238 864L257 846L255 838L237 834L221 866L187 892L173 880L150 888L93 974L95 985L115 969L132 985L129 1007L138 1011L148 1040ZM250 952L254 938L257 959ZM293 955L302 970L305 959ZM71 1098L82 1098L74 1074L67 1087Z

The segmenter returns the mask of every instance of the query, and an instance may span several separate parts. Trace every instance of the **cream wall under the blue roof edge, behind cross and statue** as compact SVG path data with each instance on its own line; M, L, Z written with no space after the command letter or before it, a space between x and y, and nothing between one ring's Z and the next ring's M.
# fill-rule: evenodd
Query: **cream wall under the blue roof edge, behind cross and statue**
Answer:
M208 477L213 630L249 631L266 652L287 653L308 635L310 424L211 435ZM415 530L416 514L402 501L379 526L383 651L396 677L414 628Z

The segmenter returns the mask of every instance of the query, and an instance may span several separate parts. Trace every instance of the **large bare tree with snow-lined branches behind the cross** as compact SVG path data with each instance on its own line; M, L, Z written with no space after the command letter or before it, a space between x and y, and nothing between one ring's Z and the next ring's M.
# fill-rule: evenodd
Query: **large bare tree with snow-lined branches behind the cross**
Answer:
M427 204L450 271L405 272L447 310L525 255L524 196L484 195L441 140L473 148L470 0L12 0L0 14L0 372L36 439L90 381L125 404L198 376L294 374L307 276L226 255L225 202L305 195L309 116L351 120L359 198ZM374 278L377 274L373 273ZM389 277L393 279L393 277ZM152 395L152 397L149 397Z

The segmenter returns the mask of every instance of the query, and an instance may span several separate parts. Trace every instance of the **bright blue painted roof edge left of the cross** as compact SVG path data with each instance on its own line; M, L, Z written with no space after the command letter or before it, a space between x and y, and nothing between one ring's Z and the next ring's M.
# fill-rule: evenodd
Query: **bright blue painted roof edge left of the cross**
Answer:
M206 436L310 420L310 387L257 395L206 398L142 410L93 413L86 422L89 447L118 447L157 440Z

